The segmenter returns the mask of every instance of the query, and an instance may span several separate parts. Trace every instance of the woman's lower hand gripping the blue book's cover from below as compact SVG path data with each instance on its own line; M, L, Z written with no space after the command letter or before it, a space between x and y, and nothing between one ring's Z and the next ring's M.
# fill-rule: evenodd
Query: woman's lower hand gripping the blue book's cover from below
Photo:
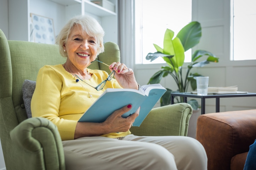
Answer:
M136 117L139 116L140 108L137 111L128 116L127 118L123 118L122 115L132 109L132 105L124 106L123 108L116 110L112 113L104 122L104 126L106 126L109 133L112 132L127 132L135 121Z

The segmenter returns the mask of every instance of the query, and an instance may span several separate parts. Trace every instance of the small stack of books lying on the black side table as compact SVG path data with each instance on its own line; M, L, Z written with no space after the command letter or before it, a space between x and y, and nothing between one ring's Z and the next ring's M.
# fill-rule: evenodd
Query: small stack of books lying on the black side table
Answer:
M229 86L229 87L208 87L208 93L213 94L241 94L248 92L240 92L238 91L237 86Z

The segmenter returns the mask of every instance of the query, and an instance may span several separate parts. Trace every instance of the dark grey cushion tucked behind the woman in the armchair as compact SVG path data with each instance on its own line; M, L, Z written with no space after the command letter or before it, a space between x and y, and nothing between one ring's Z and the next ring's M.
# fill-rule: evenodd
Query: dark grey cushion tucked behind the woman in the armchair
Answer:
M22 85L23 101L28 118L32 117L31 114L31 99L35 91L36 82L31 80L25 80Z

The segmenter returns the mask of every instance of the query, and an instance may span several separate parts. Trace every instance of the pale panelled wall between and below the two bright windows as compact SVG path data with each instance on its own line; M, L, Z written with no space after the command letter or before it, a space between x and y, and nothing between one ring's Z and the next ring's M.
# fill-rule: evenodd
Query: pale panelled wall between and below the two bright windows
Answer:
M192 0L192 20L199 21L202 26L202 38L193 50L210 51L219 57L219 63L211 63L202 68L193 68L191 72L209 76L209 86L237 85L239 91L256 92L256 60L229 61L229 8L230 5L227 0ZM162 65L135 65L136 80L140 84L146 84ZM186 66L183 73L185 71ZM170 75L164 78L161 84L173 90L178 89ZM200 99L198 101L200 102ZM220 111L256 109L255 101L256 97L221 98ZM205 112L215 112L215 99L206 99Z

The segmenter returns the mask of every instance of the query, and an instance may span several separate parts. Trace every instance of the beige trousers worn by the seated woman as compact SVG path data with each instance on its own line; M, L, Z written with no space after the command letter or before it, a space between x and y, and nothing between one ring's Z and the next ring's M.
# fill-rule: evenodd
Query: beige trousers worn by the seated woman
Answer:
M66 170L206 170L204 147L190 137L128 135L63 141Z

